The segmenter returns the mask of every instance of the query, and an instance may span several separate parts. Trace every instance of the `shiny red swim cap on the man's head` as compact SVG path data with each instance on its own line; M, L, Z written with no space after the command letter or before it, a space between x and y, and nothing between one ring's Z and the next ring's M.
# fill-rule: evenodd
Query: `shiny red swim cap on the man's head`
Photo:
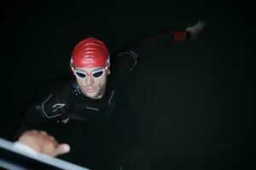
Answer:
M80 41L73 49L71 65L75 67L105 67L109 65L107 46L94 37Z

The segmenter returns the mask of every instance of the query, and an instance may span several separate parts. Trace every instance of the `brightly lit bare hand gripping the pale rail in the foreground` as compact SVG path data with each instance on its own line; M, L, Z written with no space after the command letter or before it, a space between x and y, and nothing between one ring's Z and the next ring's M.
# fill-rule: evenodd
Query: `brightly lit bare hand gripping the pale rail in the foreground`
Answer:
M48 156L59 156L70 150L68 144L59 144L53 136L44 131L27 131L20 136L18 142Z

